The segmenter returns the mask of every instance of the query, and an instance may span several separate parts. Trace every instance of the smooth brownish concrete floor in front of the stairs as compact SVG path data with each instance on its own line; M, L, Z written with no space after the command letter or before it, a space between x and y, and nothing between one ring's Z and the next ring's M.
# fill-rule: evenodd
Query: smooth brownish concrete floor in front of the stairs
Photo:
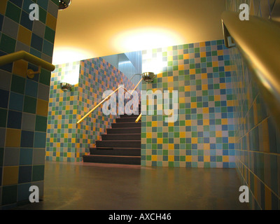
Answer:
M45 162L42 202L17 209L248 209L235 169Z

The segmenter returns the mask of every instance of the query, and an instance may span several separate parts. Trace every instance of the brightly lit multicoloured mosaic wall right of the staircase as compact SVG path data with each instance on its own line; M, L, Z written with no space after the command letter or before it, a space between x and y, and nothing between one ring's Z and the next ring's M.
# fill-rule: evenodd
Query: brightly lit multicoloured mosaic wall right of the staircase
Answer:
M142 90L178 91L179 109L175 123L157 111L142 117L141 165L235 167L232 73L223 40L144 50L142 57L143 71L161 64ZM156 103L159 111L165 107Z

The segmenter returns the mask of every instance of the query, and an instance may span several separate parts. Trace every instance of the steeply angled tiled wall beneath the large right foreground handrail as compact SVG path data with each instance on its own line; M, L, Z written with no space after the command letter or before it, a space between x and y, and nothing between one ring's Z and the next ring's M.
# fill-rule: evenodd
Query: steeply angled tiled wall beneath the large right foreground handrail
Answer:
M237 10L235 1L229 3L229 10ZM237 173L241 183L250 189L251 209L280 209L280 132L238 48L232 48L230 55L234 62L233 93L237 99Z

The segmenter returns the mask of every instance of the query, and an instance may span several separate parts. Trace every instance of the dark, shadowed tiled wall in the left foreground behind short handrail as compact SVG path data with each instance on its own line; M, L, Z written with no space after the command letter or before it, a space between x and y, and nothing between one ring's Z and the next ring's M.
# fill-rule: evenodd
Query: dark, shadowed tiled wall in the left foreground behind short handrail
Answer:
M38 3L39 21L29 20L29 5ZM52 62L58 0L1 0L0 56L19 50ZM0 208L29 201L29 187L43 197L45 132L50 72L42 69L33 79L25 61L0 68Z

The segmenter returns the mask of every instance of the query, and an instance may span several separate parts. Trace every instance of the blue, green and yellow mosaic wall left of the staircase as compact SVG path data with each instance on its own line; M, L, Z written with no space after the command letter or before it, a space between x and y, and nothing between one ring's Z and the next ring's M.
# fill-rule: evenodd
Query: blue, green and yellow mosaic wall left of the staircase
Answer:
M67 75L63 71L68 66L73 70L79 66L78 84L71 92L62 92L60 81ZM83 155L94 146L95 140L101 139L117 116L104 115L101 106L83 123L76 123L102 101L105 90L115 90L119 84L124 84L127 90L134 88L122 72L101 57L57 66L51 79L46 160L83 160Z

